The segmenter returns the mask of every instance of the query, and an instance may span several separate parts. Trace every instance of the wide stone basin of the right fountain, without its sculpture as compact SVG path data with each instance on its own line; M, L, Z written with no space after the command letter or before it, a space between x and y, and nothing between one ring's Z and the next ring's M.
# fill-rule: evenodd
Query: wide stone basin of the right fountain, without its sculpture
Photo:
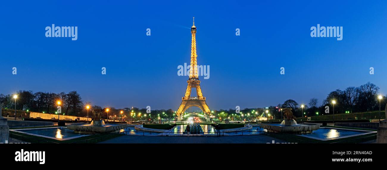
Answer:
M261 123L261 128L266 129L267 132L305 134L310 133L311 130L313 131L319 129L320 125L281 125Z

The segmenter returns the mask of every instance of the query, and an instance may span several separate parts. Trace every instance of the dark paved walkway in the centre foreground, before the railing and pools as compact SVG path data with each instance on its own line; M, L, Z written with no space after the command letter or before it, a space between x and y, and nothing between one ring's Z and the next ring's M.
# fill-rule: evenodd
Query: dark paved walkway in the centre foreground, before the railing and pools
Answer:
M188 144L201 144L201 143L267 143L280 142L279 139L272 138L267 135L240 135L240 136L136 136L136 135L122 135L108 141L101 143L188 143Z

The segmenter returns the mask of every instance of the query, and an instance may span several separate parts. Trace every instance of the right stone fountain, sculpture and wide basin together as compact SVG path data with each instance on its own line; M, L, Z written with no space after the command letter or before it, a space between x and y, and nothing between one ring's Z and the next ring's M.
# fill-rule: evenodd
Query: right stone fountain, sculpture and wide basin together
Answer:
M285 132L285 133L296 133L306 134L312 133L313 130L320 128L320 125L303 125L297 124L296 116L293 116L291 108L283 109L286 119L280 124L262 124L261 127L266 129L267 132Z

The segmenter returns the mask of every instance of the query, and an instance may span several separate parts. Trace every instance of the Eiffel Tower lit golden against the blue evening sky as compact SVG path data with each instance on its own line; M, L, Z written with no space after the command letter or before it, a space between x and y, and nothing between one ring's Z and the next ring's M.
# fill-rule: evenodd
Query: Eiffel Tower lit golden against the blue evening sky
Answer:
M182 113L185 112L188 108L196 106L202 109L203 113L210 115L211 111L205 102L205 97L203 97L202 89L200 88L200 80L197 73L197 54L196 54L196 27L195 27L195 17L194 24L191 27L191 65L190 65L190 76L187 80L187 90L185 91L184 97L182 97L182 104L180 104L179 109L176 112L176 116L180 117ZM192 88L196 88L197 97L191 97Z

